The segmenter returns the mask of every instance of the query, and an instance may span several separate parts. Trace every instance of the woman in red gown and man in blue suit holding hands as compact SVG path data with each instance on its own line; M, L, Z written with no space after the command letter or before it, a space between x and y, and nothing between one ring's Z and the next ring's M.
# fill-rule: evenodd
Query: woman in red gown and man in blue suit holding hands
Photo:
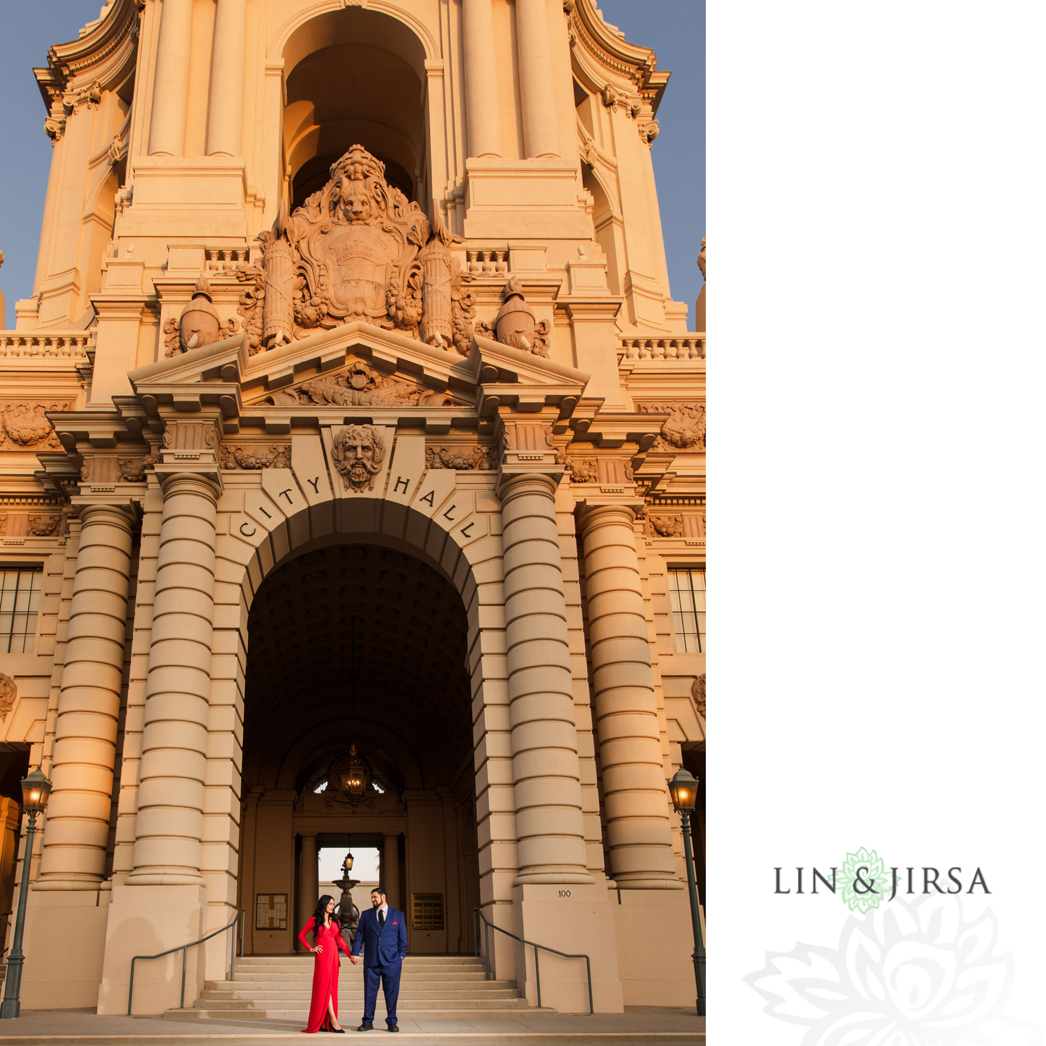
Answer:
M341 927L334 916L334 897L324 893L316 913L305 924L298 940L316 953L313 968L313 1001L309 1007L309 1027L304 1031L344 1031L338 1024L338 970L340 948L353 965L360 961L363 948L363 1023L357 1031L372 1031L374 1006L378 1003L378 982L385 994L385 1021L389 1031L399 1031L395 1003L400 996L400 972L407 954L407 920L401 911L390 908L385 890L376 886L370 891L370 911L360 915L360 926L353 939L353 951L345 947ZM313 934L314 947L309 947L305 934Z

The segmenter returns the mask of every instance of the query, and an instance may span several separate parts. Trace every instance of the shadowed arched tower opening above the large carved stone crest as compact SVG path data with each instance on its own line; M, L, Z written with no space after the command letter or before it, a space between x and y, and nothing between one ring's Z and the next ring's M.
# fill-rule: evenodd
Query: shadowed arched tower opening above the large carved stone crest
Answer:
M428 199L425 48L407 25L363 7L327 12L290 36L283 63L292 211L354 144L385 163L385 177L408 200Z

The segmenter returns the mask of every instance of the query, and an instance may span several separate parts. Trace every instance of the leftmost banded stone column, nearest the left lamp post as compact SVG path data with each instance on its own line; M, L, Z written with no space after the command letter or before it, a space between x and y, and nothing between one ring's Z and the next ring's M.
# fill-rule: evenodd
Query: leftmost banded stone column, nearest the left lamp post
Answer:
M38 890L97 889L106 868L132 517L84 505L79 520Z

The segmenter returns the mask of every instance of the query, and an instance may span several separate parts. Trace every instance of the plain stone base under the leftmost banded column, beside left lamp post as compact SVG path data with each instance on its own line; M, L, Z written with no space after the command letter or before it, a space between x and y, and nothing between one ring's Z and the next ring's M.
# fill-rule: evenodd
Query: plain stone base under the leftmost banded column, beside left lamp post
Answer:
M26 899L22 1009L81 1009L98 1001L109 891L47 890Z

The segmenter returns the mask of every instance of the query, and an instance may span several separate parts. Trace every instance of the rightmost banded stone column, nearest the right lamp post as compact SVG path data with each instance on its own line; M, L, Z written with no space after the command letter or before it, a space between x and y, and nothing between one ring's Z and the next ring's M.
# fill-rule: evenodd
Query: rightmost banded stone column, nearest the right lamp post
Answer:
M679 889L634 521L624 505L581 521L610 869L618 886Z

